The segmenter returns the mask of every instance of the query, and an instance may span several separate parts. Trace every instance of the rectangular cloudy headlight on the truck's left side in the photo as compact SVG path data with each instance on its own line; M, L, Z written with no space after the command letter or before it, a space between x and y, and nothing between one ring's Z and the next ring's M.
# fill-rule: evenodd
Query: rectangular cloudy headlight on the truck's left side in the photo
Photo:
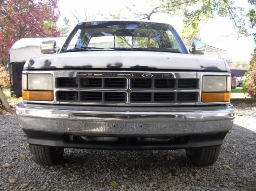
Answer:
M53 75L28 74L28 90L53 90Z

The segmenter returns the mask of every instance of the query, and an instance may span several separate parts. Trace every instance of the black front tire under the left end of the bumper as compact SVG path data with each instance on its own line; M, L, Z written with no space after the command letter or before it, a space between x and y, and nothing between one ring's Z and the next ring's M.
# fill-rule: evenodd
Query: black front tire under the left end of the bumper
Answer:
M41 165L51 166L63 161L64 148L29 145L34 161Z

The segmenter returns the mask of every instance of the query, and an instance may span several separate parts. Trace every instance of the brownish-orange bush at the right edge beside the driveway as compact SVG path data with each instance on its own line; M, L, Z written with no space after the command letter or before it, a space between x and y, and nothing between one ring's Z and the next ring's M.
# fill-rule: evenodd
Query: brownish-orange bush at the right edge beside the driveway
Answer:
M250 69L245 74L246 80L243 82L242 92L246 91L252 98L256 98L256 54L253 55L250 61Z

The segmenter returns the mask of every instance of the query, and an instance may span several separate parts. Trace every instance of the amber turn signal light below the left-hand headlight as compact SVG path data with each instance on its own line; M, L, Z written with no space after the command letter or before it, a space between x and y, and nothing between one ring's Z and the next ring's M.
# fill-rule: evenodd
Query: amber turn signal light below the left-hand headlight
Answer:
M31 101L53 101L53 91L22 91L22 98Z

